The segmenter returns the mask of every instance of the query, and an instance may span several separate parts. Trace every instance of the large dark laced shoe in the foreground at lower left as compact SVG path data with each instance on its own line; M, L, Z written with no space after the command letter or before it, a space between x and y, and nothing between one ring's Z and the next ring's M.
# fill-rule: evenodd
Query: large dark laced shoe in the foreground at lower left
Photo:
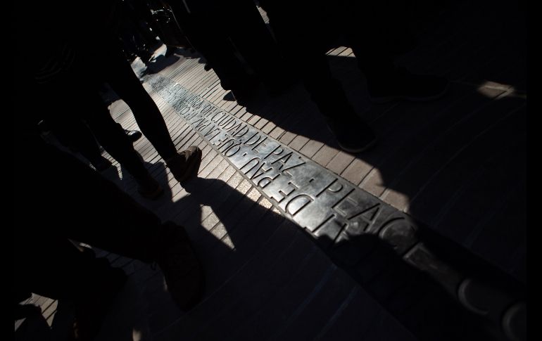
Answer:
M162 231L156 262L173 300L180 309L187 311L203 295L203 270L182 226L167 221Z

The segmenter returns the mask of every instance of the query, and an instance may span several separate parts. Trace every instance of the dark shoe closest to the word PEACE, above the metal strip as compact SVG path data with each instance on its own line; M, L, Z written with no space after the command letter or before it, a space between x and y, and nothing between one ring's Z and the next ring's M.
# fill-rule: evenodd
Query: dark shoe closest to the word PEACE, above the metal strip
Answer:
M377 143L377 136L359 117L353 120L355 121L327 119L327 126L342 150L348 153L361 153Z

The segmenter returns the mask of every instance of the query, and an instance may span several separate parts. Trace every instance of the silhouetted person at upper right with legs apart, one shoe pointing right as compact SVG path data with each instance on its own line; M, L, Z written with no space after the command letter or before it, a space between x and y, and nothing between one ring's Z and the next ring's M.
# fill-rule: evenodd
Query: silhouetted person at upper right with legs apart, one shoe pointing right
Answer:
M339 146L348 152L367 150L377 138L332 76L325 53L337 41L353 50L374 102L428 101L446 91L446 79L412 75L393 63L398 53L412 46L407 1L260 0L259 4L284 57L296 65Z

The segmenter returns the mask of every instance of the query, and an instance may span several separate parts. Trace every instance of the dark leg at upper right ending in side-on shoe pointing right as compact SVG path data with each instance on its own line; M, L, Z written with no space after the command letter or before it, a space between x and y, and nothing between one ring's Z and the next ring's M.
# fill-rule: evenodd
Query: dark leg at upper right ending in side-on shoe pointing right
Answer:
M394 100L431 101L445 94L448 79L416 75L395 64L398 54L412 49L407 1L365 4L351 1L341 30L367 80L369 98L376 103Z

